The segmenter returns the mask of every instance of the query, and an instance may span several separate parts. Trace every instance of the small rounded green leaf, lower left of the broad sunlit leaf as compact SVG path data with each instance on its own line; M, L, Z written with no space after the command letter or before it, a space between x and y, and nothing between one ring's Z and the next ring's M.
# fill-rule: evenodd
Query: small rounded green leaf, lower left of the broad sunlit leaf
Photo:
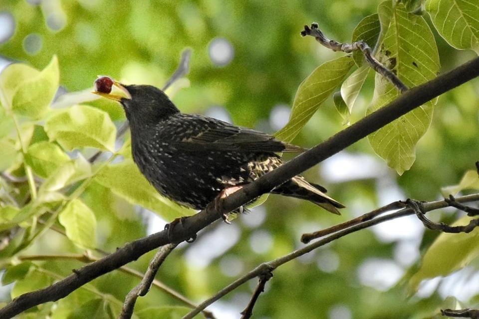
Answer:
M39 142L28 147L25 162L40 177L46 178L59 166L70 161L61 148L53 143Z

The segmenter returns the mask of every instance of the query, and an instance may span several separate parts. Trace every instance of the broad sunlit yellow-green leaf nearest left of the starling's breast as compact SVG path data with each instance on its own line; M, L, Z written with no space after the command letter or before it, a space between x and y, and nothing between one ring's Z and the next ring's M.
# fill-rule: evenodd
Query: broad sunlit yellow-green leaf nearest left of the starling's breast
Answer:
M45 123L50 141L56 140L64 149L95 147L113 152L116 127L108 113L98 108L76 105L62 110Z

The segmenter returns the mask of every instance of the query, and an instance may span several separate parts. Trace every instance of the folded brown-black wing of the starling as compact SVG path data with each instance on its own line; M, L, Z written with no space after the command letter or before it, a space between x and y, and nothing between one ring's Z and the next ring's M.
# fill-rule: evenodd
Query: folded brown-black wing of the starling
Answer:
M197 118L198 120L199 118ZM202 117L205 125L183 136L180 147L191 150L240 150L249 152L303 152L300 146L284 143L274 136L227 122Z

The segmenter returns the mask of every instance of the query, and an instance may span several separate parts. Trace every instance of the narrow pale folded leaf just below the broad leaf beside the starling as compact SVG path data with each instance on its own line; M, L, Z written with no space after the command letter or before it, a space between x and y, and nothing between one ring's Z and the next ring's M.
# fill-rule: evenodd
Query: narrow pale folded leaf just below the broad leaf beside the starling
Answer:
M91 175L90 163L81 155L78 158L69 160L58 167L43 182L38 190L38 197L42 193L55 192L74 182L85 179Z

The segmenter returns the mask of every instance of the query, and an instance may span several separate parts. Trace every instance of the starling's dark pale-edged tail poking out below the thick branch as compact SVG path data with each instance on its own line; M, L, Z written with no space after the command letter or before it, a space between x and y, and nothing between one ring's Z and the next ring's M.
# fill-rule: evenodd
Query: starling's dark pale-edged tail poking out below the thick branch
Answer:
M319 190L306 182L303 177L296 176L278 188L275 188L271 193L308 200L328 212L340 215L341 213L339 213L338 208L344 208L345 206L324 194L322 192L323 190L325 190L325 188L321 187L321 190Z

